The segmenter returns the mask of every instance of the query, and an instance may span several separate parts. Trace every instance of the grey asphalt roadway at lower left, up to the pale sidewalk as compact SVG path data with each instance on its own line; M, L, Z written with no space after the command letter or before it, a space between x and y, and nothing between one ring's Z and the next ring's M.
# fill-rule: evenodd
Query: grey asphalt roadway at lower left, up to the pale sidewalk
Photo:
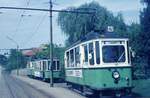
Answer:
M0 72L0 98L52 98L25 82Z

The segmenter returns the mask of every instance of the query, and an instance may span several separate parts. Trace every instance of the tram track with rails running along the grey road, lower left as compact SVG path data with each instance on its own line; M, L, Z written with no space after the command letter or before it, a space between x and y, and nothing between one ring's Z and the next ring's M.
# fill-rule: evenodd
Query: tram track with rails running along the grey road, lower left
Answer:
M10 98L54 98L9 74L4 74L3 79Z

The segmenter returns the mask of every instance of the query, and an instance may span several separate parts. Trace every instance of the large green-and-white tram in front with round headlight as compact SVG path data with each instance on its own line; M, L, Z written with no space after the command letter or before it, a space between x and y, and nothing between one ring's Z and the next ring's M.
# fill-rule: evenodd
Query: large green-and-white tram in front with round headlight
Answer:
M129 39L90 33L65 51L65 81L82 92L123 96L132 89Z

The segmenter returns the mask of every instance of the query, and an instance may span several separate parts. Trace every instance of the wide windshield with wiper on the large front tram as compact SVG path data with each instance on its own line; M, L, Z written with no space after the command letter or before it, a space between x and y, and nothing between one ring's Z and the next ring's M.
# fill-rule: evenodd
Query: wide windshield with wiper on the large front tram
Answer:
M123 45L103 46L102 52L104 63L125 62L125 48Z

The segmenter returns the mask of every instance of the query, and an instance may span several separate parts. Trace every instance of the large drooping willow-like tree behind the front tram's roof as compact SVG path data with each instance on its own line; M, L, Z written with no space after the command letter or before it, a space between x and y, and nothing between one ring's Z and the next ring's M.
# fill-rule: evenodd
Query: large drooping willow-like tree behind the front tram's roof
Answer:
M62 31L68 36L68 44L76 42L81 36L86 35L92 30L106 30L107 26L110 25L114 26L116 32L124 35L124 32L126 32L126 25L123 21L122 14L119 13L117 16L114 16L110 11L100 6L97 2L84 4L78 8L70 7L66 10L91 11L90 9L95 9L95 14L59 13L58 24Z

